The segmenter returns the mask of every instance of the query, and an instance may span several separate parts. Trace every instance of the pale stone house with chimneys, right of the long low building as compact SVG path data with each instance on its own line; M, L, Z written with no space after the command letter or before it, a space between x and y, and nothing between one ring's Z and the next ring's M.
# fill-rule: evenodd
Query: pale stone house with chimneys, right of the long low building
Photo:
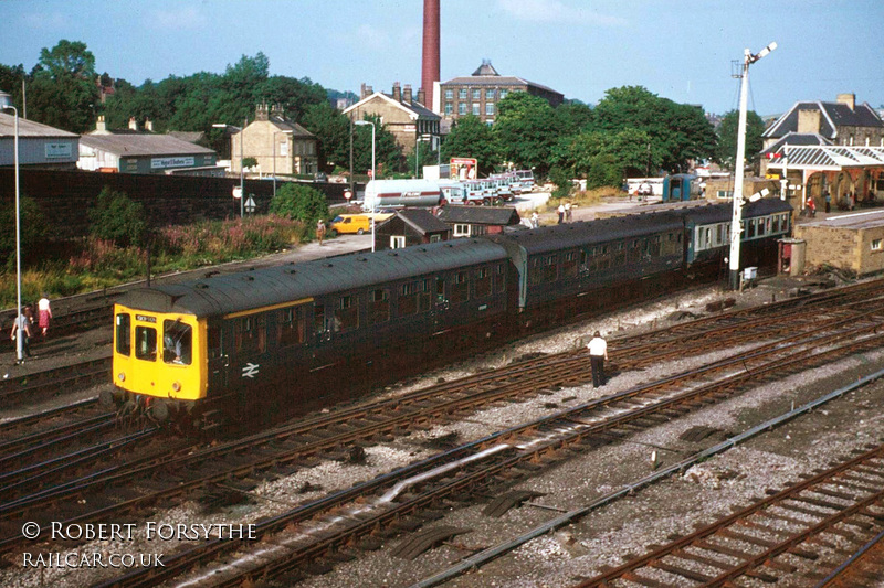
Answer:
M235 174L240 173L240 140L243 137L243 159L255 158L264 175L312 174L319 169L316 136L285 118L282 106L257 105L255 120L231 136L231 171Z

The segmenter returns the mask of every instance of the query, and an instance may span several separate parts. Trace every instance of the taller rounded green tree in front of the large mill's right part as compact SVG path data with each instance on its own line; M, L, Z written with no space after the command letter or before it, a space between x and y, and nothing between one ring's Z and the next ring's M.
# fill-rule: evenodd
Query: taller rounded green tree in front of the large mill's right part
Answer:
M515 92L497 108L493 131L501 156L517 168L535 168L539 175L546 175L558 139L552 107L543 98Z

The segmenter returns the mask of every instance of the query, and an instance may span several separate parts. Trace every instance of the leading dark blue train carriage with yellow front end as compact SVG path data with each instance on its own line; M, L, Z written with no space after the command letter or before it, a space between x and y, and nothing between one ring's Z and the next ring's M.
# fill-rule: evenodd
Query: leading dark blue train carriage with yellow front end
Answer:
M495 334L507 280L503 247L459 239L134 290L115 306L117 399L158 418L222 397L299 413Z

